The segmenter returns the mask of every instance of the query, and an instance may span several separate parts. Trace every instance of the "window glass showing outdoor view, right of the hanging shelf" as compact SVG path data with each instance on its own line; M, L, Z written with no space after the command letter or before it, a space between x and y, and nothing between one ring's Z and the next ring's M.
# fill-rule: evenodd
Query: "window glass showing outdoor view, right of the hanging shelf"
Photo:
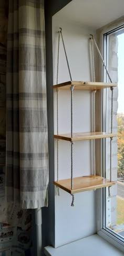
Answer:
M118 82L113 90L112 180L115 186L106 189L106 227L124 238L124 29L107 35L107 65L112 82ZM111 91L107 96L107 129L110 131ZM118 142L118 145L117 145ZM110 141L107 142L107 177L110 178Z

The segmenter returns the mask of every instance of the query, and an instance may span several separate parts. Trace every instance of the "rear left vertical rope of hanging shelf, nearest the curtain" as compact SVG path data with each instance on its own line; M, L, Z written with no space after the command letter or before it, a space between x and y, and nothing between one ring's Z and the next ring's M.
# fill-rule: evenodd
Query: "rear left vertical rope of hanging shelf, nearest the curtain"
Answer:
M56 84L58 84L58 70L59 70L59 46L60 46L60 32L58 31L58 54L57 54L57 77ZM58 135L58 88L56 90L56 104L57 104L57 135ZM57 139L57 181L59 181L59 162L58 162L58 139ZM59 195L59 188L58 188Z

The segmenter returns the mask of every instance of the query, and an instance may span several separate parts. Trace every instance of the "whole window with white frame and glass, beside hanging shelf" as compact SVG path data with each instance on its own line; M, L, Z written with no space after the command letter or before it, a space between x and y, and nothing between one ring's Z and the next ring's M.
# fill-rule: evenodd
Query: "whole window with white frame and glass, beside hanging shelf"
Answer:
M108 188L103 190L103 208L101 231L105 239L124 250L124 25L103 33L104 60L112 82L118 82L118 88L113 92L113 132L118 132L118 139L112 140L112 180L117 184L112 186L110 197ZM103 80L109 82L106 72ZM103 117L103 130L110 131L111 92L103 94L103 109L107 120ZM117 143L118 141L118 143ZM103 142L103 172L110 178L110 140ZM108 239L109 237L109 239Z

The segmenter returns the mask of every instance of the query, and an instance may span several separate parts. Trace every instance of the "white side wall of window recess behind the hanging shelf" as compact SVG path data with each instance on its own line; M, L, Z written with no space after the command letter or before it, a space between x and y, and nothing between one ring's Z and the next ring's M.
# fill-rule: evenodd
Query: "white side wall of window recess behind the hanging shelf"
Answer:
M58 29L63 28L71 75L74 81L90 81L88 27L78 26L53 16L53 73L56 84ZM69 73L63 46L60 40L58 83L69 81ZM74 132L91 130L91 92L74 92ZM56 134L56 92L54 93L54 122ZM59 133L70 132L70 91L59 91ZM92 172L91 147L89 141L75 142L74 176ZM55 140L55 180L56 176ZM70 142L59 141L59 179L70 178ZM96 233L96 192L75 194L75 206L71 207L71 195L63 190L55 193L55 247Z

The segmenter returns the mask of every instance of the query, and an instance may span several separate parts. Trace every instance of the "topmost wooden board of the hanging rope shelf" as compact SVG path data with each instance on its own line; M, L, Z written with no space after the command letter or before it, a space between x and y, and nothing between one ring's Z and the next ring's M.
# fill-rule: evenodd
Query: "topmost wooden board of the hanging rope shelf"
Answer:
M83 82L83 81L68 81L61 84L53 85L53 88L59 88L61 90L68 90L70 86L74 85L75 90L86 90L86 91L94 91L94 90L101 90L104 88L116 87L117 84L112 83L101 83L101 82Z

